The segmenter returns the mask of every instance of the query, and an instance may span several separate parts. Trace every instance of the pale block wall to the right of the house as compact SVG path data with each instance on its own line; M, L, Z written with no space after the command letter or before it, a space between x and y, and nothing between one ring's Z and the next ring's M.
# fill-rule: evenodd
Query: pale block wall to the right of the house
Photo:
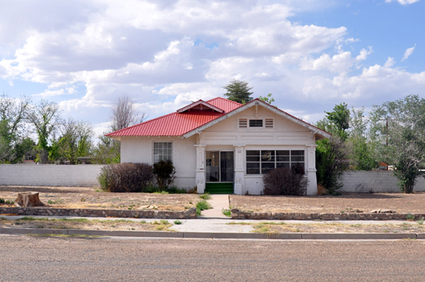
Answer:
M399 187L397 187L397 178L390 170L348 171L344 173L342 183L344 187L339 189L340 192L400 192ZM414 192L423 191L425 191L425 179L419 177Z

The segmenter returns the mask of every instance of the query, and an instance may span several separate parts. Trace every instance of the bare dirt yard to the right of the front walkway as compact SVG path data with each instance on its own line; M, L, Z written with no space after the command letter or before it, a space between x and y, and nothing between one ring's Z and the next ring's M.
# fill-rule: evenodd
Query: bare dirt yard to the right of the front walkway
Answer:
M230 196L230 206L261 213L425 213L425 193L342 194L341 196Z

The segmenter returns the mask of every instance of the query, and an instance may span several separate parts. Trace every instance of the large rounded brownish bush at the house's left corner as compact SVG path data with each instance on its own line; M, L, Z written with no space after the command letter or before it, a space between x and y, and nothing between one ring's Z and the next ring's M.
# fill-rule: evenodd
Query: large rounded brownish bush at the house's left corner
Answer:
M154 175L147 163L116 163L106 165L98 176L98 182L107 192L144 192Z

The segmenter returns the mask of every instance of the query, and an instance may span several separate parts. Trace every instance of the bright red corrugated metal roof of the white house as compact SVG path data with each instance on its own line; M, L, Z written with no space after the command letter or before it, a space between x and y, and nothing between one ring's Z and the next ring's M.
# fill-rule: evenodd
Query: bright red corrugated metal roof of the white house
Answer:
M198 127L221 117L227 112L241 107L242 104L225 98L214 98L206 101L208 104L218 107L224 112L213 112L212 110L191 110L189 112L173 112L147 122L120 129L106 136L182 136Z

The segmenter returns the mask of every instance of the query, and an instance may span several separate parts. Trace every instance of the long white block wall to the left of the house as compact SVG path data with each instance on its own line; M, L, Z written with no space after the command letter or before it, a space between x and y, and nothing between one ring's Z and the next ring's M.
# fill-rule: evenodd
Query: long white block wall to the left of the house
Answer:
M98 186L103 165L0 165L0 185Z

